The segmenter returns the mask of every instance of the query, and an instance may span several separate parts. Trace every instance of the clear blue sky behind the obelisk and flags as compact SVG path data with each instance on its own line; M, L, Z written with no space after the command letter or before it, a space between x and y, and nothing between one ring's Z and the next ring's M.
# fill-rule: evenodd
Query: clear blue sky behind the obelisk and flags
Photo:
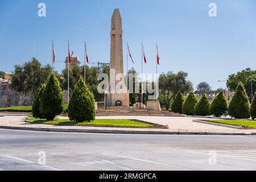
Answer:
M38 16L38 4L46 4L46 17ZM210 18L208 5L217 5ZM0 70L14 71L15 64L36 57L51 64L51 40L56 49L55 69L64 68L67 40L81 60L84 41L91 61L109 62L110 20L118 8L123 21L123 52L129 43L141 72L141 42L148 64L155 72L155 43L160 54L159 72L188 72L194 87L207 81L212 89L225 88L228 75L256 69L256 2L254 0L94 0L0 1ZM126 64L125 64L126 66ZM125 67L126 70L126 67Z

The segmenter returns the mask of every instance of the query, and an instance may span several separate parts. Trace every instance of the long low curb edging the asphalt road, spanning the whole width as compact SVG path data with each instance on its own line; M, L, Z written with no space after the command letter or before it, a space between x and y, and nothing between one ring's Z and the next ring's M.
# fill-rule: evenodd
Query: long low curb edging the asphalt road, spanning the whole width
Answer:
M95 129L56 129L37 127L0 126L0 129L50 131L66 133L102 133L102 134L154 134L154 135L256 135L256 133L214 133L214 132L190 132L190 131L134 131L134 130L95 130Z

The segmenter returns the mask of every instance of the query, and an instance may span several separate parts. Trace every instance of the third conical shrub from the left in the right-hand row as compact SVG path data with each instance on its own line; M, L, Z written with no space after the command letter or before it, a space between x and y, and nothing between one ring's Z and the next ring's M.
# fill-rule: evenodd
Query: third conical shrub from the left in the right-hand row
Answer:
M207 96L204 96L197 102L195 107L196 115L209 115L210 114L210 101L208 100Z

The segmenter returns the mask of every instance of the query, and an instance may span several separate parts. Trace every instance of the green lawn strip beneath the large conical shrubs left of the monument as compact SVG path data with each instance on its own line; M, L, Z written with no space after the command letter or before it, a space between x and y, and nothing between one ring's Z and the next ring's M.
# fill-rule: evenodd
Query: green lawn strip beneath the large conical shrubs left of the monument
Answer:
M55 125L98 125L98 126L121 126L121 127L154 127L149 123L142 123L131 121L129 119L94 119L91 122L74 122L69 119L55 118L53 121L46 121L46 119L27 119L29 122L46 123Z

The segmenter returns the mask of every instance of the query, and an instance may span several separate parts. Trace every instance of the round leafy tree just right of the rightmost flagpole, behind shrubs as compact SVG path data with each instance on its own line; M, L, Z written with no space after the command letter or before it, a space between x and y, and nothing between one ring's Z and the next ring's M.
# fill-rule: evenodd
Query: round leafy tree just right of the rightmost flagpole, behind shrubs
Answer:
M159 101L162 103L166 110L169 110L171 101L179 92L183 93L193 90L193 85L191 81L187 81L188 73L183 71L177 74L168 72L166 74L162 73L159 76Z

